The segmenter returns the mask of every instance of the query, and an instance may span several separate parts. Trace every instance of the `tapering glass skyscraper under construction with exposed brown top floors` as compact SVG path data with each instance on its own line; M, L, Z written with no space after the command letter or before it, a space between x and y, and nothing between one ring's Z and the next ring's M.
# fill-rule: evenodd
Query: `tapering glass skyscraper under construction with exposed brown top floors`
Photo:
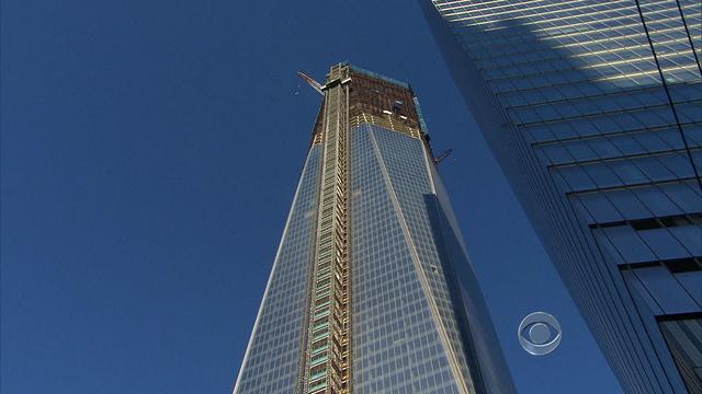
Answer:
M513 389L410 86L339 63L235 393Z

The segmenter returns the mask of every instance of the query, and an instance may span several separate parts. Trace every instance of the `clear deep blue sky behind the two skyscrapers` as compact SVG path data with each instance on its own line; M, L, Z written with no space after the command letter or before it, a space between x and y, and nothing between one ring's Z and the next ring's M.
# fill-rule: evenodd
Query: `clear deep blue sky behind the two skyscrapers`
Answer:
M228 393L309 143L301 84L412 84L518 386L614 391L415 1L21 1L1 21L3 394ZM556 285L553 285L556 283ZM528 356L522 316L561 318Z

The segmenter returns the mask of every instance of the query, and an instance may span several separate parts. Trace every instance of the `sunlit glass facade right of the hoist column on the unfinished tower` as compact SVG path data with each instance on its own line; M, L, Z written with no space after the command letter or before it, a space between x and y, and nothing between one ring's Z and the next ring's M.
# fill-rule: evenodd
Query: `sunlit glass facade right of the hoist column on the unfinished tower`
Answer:
M424 199L423 144L364 125L352 147L354 392L473 392Z

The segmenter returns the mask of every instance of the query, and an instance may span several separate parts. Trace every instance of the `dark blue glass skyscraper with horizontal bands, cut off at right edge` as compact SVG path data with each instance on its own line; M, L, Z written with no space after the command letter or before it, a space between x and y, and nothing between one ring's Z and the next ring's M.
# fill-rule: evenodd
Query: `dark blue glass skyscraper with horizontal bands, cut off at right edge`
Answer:
M420 0L622 386L702 392L699 0Z

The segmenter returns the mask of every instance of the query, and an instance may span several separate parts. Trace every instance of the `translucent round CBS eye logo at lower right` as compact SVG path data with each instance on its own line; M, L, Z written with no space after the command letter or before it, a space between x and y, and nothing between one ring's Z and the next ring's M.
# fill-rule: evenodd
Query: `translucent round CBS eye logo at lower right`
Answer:
M530 355L548 355L561 345L561 324L548 313L530 313L519 324L517 337Z

